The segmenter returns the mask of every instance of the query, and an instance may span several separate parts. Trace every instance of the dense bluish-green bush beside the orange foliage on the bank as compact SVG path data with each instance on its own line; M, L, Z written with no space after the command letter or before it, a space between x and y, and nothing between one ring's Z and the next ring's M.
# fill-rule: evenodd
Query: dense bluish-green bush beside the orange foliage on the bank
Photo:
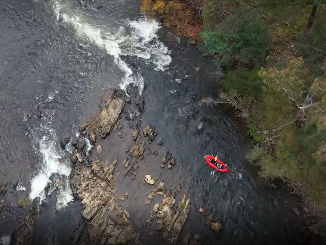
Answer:
M234 22L240 22L238 28L231 27ZM269 30L258 17L239 20L236 15L227 16L218 30L204 28L201 37L211 54L222 57L223 67L241 64L252 68L261 64L270 49Z

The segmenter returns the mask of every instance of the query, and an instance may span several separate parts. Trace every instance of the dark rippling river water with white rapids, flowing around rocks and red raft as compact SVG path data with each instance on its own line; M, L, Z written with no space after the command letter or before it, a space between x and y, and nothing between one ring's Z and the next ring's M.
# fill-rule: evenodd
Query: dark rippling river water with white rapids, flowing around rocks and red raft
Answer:
M26 214L16 208L24 197L39 205L34 244L71 243L81 206L70 189L72 165L59 161L65 156L59 141L73 137L112 89L130 84L147 99L143 125L153 125L157 140L164 139L152 147L170 150L178 163L161 170L159 155L155 167L140 168L141 176L160 176L171 189L181 183L191 198L181 238L191 231L205 244L306 244L303 221L291 212L300 208L299 199L245 167L250 143L230 111L199 105L217 95L222 71L183 38L166 40L169 30L146 19L139 6L126 0L0 2L0 181L8 182L0 199L13 206L0 213L0 244L8 244L17 217ZM108 155L123 155L129 143L112 134ZM225 160L230 174L213 174L204 163L209 154ZM146 234L155 228L142 225L160 199L143 207L144 219L138 219L137 204L143 206L151 189L122 178L116 185L117 196L133 193L122 205L144 244L151 244ZM200 206L223 220L220 239L207 230Z

